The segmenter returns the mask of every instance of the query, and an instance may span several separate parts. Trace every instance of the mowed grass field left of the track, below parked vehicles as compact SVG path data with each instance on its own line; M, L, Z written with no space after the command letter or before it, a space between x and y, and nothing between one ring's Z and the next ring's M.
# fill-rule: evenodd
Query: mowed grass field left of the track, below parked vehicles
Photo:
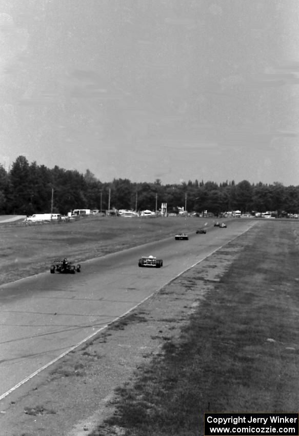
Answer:
M55 259L83 262L158 241L175 232L212 225L193 217L121 218L88 216L74 222L0 225L0 284L47 271Z

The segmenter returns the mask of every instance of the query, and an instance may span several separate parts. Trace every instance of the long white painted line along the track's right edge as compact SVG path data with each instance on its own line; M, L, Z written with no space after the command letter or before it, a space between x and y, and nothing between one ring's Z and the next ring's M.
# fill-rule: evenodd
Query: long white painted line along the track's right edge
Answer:
M237 237L240 237L242 234L246 233L248 230L251 229L251 227L254 226L255 223L253 223L247 230L245 230L243 233L234 236L231 240L229 240L228 242L226 242L224 245L221 245L220 247L215 248L211 253L207 254L206 256L204 256L202 259L200 259L199 261L195 262L195 264L191 265L190 267L186 268L184 271L180 272L179 274L177 274L173 279L171 279L167 284L173 282L175 279L177 279L178 277L180 277L180 275L184 274L184 272L188 271L191 268L194 268L194 266L198 265L199 263L201 263L202 261L204 261L205 259L207 259L207 257L211 256L212 254L214 254L216 251L220 250L221 248L223 248L225 245L229 244L230 242L234 241ZM83 339L82 341L80 341L78 344L72 346L71 348L69 348L68 350L66 350L64 353L60 354L59 356L57 356L55 359L51 360L51 362L48 362L46 365L42 366L41 368L38 368L36 371L32 372L32 374L28 375L28 377L26 377L25 379L23 379L21 382L17 383L15 386L13 386L12 388L10 388L8 391L4 392L1 396L0 396L0 401L3 400L5 397L7 397L7 395L9 395L10 393L12 393L13 391L15 391L17 388L21 387L22 385L24 385L26 382L28 382L30 379L32 379L35 375L39 374L39 372L42 372L44 369L48 368L49 366L53 365L55 362L57 362L58 360L62 359L65 355L67 355L68 353L70 353L71 351L75 350L76 348L78 348L80 345L84 344L85 342L87 342L89 339L91 339L93 336L95 336L97 333L101 332L102 330L104 330L105 328L107 328L109 325L113 324L115 321L118 321L119 319L123 318L124 316L126 316L128 313L132 312L134 309L136 309L136 307L140 306L141 304L143 304L145 301L149 300L150 298L152 298L153 295L155 295L156 293L158 293L164 286L166 286L167 284L164 284L161 288L156 289L153 293L151 293L150 295L148 295L145 299L143 299L141 302L137 303L135 306L131 307L129 310L127 310L125 313L123 313L121 316L117 316L114 320L110 321L110 323L106 324L105 326L99 328L98 330L96 330L95 332L93 332L92 334L90 334L89 336L87 336L87 338Z

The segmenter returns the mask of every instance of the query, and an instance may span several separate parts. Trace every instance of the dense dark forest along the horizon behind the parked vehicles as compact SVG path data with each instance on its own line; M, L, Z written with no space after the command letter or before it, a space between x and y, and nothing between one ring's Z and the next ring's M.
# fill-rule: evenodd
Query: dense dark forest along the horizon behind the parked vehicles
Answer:
M278 211L299 212L299 186L282 183L251 184L225 181L189 181L163 185L135 183L128 179L101 182L89 170L81 174L76 170L52 169L36 162L29 163L25 156L18 156L6 170L0 165L0 214L31 215L38 212L67 214L70 210L108 209L155 210L167 203L168 211L187 207L188 211L208 210L214 214L239 209L245 212Z

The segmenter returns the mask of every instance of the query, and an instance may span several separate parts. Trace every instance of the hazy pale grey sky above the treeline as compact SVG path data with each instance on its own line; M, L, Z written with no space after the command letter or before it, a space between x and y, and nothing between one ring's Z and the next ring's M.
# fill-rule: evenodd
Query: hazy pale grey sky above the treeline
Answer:
M299 185L297 0L0 0L0 164Z

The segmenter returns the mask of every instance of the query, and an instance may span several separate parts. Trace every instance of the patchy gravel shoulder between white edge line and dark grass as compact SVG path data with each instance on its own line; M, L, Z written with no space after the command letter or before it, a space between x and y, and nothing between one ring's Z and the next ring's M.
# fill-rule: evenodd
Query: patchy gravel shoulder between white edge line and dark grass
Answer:
M0 405L1 434L90 434L113 413L114 389L129 383L136 370L161 355L165 342L178 341L190 314L250 243L252 232L183 273L125 318L8 395Z

